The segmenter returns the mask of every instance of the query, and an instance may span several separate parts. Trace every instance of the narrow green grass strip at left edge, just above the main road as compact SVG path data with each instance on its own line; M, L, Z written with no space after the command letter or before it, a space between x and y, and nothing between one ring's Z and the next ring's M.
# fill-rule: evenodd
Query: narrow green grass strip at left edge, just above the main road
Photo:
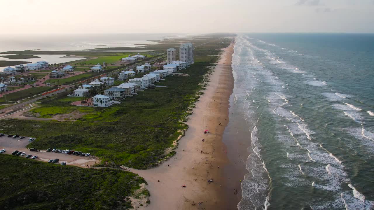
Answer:
M26 90L19 90L17 92L9 93L1 97L0 104L9 104L9 102L5 101L5 98L7 101L17 101L53 89L55 89L55 87L31 87Z

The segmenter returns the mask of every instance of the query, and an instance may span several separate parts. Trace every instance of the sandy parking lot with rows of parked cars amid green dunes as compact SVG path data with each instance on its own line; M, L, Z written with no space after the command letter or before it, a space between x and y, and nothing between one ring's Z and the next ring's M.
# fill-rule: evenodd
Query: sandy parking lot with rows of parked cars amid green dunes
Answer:
M87 167L88 165L93 165L99 163L99 159L96 157L86 157L86 156L77 156L77 155L68 155L56 152L46 152L45 150L41 150L40 152L30 151L30 148L26 148L30 142L28 141L29 138L33 137L25 137L24 139L19 139L19 137L13 139L12 137L7 137L7 134L4 133L4 136L0 136L0 150L6 149L3 154L12 154L13 151L18 150L20 152L26 152L26 155L31 154L32 156L37 155L38 157L35 160L45 161L47 162L50 159L58 158L59 162L57 164L61 164L61 162L66 162L67 165L74 165L79 167ZM37 148L38 149L38 148ZM69 148L58 148L58 149L69 149ZM1 155L1 154L0 154ZM25 158L24 156L18 156L19 158ZM50 163L53 164L53 163Z

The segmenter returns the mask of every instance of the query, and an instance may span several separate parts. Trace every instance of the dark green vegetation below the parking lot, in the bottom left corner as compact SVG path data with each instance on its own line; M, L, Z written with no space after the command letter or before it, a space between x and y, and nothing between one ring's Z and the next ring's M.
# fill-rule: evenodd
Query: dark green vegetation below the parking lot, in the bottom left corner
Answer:
M130 172L61 166L0 155L1 209L129 209L125 199L146 183ZM145 192L149 195L149 192Z

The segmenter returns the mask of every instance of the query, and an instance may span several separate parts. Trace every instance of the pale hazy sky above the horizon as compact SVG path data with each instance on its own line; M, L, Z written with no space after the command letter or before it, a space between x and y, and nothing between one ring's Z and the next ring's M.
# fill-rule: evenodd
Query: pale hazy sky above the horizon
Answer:
M374 0L0 0L3 34L374 33Z

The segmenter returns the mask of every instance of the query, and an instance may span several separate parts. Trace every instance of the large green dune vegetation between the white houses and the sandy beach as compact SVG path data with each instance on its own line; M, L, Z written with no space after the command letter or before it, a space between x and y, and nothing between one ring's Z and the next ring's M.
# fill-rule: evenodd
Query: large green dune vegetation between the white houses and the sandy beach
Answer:
M108 108L81 110L82 107L70 105L69 99L52 99L32 112L41 113L41 117L73 110L89 113L76 121L0 120L0 128L3 133L36 136L37 140L28 147L89 152L103 161L137 169L156 166L166 156L175 154L165 154L165 150L182 135L178 130L187 128L183 123L189 114L186 111L201 95L205 75L217 61L217 49L228 46L230 41L213 37L209 43L196 47L195 64L180 71L190 76L169 76L157 83L167 88L138 92Z

